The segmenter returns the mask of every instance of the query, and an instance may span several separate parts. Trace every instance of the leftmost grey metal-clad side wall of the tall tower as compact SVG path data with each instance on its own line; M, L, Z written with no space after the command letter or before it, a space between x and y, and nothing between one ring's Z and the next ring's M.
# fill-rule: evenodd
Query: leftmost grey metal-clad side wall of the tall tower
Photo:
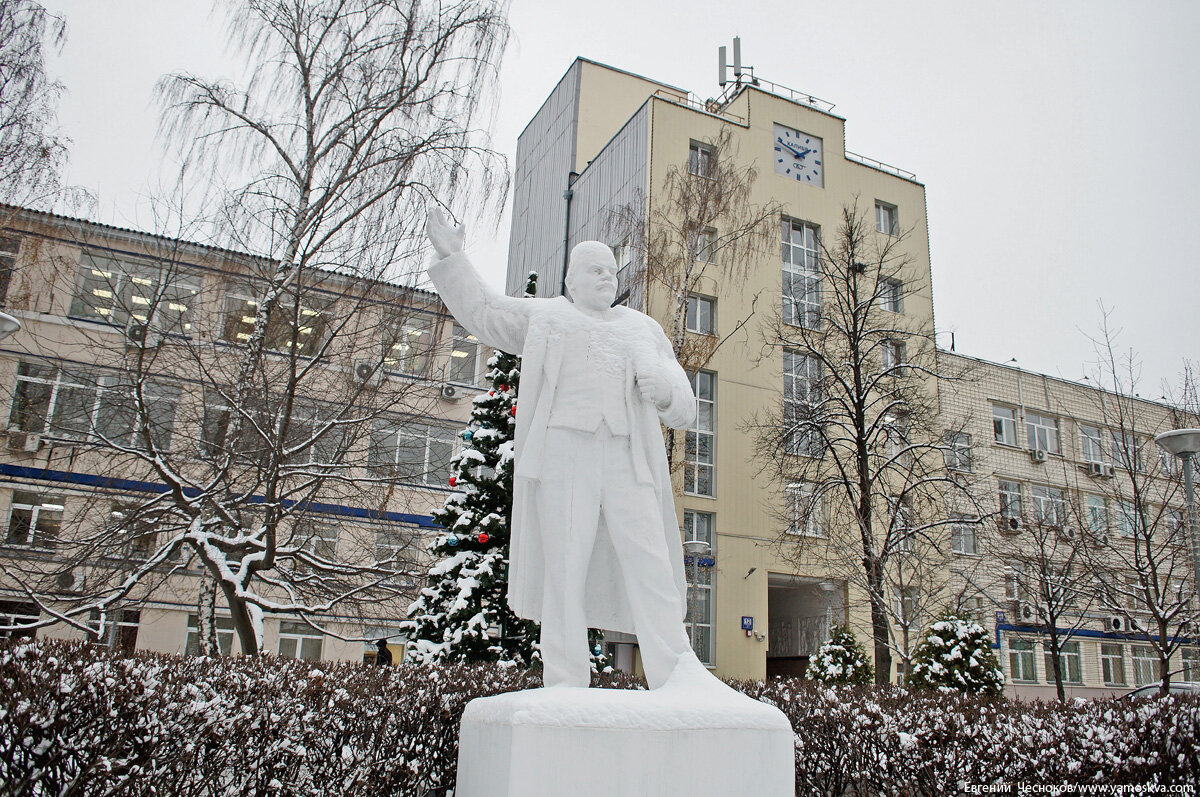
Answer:
M559 293L566 212L563 192L575 162L580 71L576 61L517 139L505 283L510 295L524 290L530 271L538 272L539 295Z

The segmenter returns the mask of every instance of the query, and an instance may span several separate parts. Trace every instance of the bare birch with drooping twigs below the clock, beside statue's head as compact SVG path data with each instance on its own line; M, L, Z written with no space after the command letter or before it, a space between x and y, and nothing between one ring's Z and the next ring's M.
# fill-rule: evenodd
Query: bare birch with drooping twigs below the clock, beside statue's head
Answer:
M648 210L638 199L618 209L610 220L610 232L631 250L636 264L631 270L636 274L637 295L644 298L643 310L666 319L667 338L689 376L704 368L754 317L751 302L750 314L716 335L712 305L706 304L712 298L704 294L714 288L744 288L750 270L773 248L782 212L782 205L774 200L764 205L751 202L758 170L738 162L727 127L700 149L702 157L694 154L667 169L662 188ZM714 278L718 274L719 278ZM659 301L664 302L660 312L655 308ZM697 331L706 325L708 331ZM666 431L666 447L667 459L676 467L676 430Z

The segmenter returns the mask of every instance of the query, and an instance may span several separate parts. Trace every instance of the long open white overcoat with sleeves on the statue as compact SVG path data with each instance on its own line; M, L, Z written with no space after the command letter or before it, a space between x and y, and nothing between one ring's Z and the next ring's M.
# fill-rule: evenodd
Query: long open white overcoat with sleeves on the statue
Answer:
M516 472L514 477L512 544L509 567L509 605L517 615L541 619L545 562L544 537L562 529L541 528L533 505L544 473L571 468L571 462L544 459L550 412L572 336L587 334L587 319L568 299L515 299L491 290L462 252L437 259L428 270L454 317L487 346L523 356L517 397ZM686 582L679 523L671 493L659 420L679 429L695 418L696 402L683 368L674 359L662 328L649 316L628 307L612 307L614 334L632 356L623 361L624 406L640 481L653 484L660 505L658 531L667 546L678 595L673 611L682 622L686 612ZM635 362L652 360L667 378L670 400L658 408L642 401L635 386ZM624 583L608 537L596 538L586 581L587 623L593 628L636 633Z

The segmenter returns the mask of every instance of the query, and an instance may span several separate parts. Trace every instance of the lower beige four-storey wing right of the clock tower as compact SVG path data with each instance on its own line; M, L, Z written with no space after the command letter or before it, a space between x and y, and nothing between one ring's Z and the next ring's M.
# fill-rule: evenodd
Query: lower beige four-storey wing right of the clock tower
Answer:
M943 413L961 421L948 463L976 477L978 499L954 527L948 568L994 628L1010 693L1055 695L1048 613L1068 696L1158 682L1156 613L1171 617L1174 678L1200 679L1180 471L1153 442L1194 419L1012 364L940 360L959 374L943 391Z

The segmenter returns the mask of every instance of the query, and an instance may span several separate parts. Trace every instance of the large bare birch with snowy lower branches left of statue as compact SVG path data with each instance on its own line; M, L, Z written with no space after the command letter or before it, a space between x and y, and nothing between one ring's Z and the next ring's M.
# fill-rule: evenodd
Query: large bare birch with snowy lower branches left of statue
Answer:
M72 550L60 541L67 559L110 562L133 544L139 556L108 576L94 568L86 600L65 611L40 600L44 611L80 624L194 558L242 652L257 653L264 612L317 625L398 599L418 540L331 535L323 507L386 516L396 477L420 483L449 462L452 439L396 415L420 418L432 402L424 383L385 374L430 376L430 347L449 337L434 298L413 287L422 206L468 188L503 196L506 173L475 124L494 96L505 11L491 0L247 2L230 16L252 65L244 88L162 82L164 132L192 174L214 178L211 240L250 254L210 250L215 270L200 277L170 251L142 271L94 262L80 274L80 308L112 300L90 308L130 343L92 347L108 361L68 374L100 412L22 418L160 487L98 525L95 513L79 519ZM198 450L172 441L176 426L199 431ZM419 472L396 473L418 445Z

